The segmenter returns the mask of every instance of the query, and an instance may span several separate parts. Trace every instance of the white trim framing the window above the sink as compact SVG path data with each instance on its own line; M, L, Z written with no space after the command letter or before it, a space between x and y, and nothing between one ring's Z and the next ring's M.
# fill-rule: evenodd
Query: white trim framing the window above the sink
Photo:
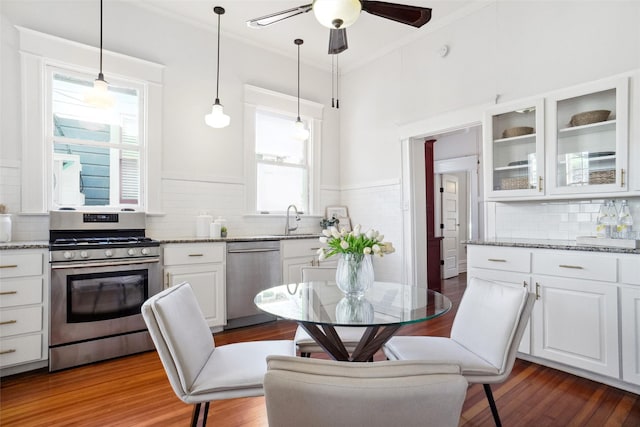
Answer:
M252 85L244 85L244 147L245 147L245 189L246 211L248 215L257 215L256 209L256 155L255 155L255 117L256 111L272 111L279 114L297 116L298 98ZM311 122L309 156L309 210L305 215L319 215L322 114L324 105L300 99L300 118ZM282 207L282 211L286 206ZM278 213L280 215L280 213Z

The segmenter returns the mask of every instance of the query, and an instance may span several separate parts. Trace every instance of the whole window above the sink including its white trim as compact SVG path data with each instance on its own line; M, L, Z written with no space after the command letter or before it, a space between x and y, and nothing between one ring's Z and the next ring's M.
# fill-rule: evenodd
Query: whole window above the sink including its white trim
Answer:
M249 213L282 214L293 204L317 213L320 181L321 104L300 100L310 131L296 136L297 98L245 85L245 144Z

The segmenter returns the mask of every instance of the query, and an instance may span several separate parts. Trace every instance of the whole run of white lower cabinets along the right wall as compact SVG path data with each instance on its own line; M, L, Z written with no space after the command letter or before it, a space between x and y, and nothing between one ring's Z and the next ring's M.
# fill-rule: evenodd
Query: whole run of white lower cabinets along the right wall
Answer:
M469 277L528 283L536 293L531 346L525 335L520 353L622 388L640 386L640 255L469 245L468 262Z

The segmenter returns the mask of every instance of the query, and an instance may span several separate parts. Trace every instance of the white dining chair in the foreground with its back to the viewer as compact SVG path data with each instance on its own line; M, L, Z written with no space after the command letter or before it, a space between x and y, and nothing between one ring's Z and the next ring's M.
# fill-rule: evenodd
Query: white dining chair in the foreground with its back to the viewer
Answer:
M452 364L269 356L267 365L270 427L457 427L467 394Z

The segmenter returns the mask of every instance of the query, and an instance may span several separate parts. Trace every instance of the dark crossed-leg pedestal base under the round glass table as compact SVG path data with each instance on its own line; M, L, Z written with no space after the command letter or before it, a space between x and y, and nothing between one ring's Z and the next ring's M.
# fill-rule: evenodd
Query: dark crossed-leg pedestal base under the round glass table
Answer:
M368 326L351 355L332 325L298 322L333 360L343 362L369 362L373 355L389 341L402 325Z

